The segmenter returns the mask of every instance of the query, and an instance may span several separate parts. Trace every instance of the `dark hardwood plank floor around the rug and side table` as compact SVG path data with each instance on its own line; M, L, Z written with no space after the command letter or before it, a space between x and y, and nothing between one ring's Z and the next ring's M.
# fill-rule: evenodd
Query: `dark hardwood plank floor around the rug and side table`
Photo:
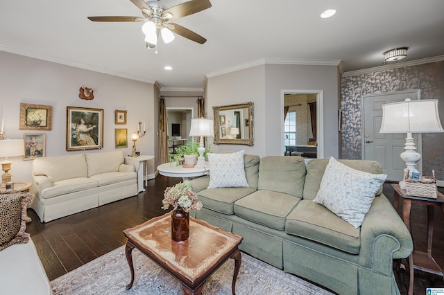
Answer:
M49 280L58 278L85 263L102 256L123 244L122 231L141 224L152 217L165 213L162 198L165 188L181 181L178 178L157 176L148 181L146 192L112 204L53 220L42 224L32 209L33 218L26 231L31 234ZM441 188L440 188L441 190ZM443 192L443 190L441 190ZM391 184L384 184L384 195L393 204ZM400 206L402 205L402 201ZM434 258L444 266L444 217L435 208ZM415 248L427 250L427 210L425 206L412 204L411 224ZM407 262L403 262L407 265ZM401 294L407 294L409 285L407 270L395 271ZM415 271L414 294L425 294L426 287L444 287L443 277Z

